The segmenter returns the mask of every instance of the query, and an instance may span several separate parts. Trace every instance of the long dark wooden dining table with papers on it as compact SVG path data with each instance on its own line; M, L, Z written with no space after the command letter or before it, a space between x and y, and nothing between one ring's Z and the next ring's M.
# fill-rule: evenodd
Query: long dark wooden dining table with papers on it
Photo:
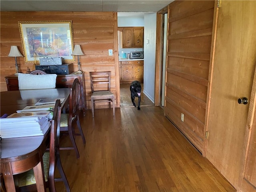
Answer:
M40 99L64 98L62 110L64 111L69 101L69 88L19 90L0 92L1 116L15 113L24 107L34 105ZM44 165L42 155L49 142L49 134L44 136L30 136L19 138L2 138L0 140L1 174L7 192L16 191L14 175L26 172L33 168L38 192L46 191L44 179Z

